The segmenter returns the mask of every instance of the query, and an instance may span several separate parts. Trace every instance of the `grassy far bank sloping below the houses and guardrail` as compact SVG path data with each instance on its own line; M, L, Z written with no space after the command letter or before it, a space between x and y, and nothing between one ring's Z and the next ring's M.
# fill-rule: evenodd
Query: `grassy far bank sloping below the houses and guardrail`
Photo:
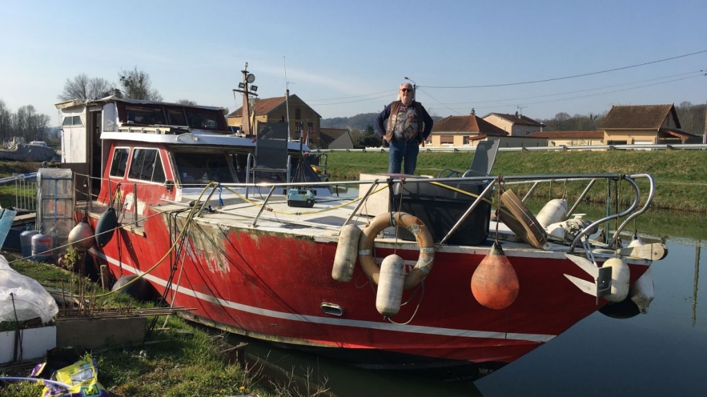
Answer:
M473 152L421 153L416 174L437 175L440 170L467 170ZM387 153L329 153L332 179L356 179L361 172L387 172ZM501 152L494 174L565 174L617 172L648 173L656 180L655 208L707 213L707 151L705 150L611 150L604 152ZM515 189L514 189L515 190ZM539 194L549 192L538 191ZM571 191L570 194L573 194ZM590 191L601 201L604 186Z

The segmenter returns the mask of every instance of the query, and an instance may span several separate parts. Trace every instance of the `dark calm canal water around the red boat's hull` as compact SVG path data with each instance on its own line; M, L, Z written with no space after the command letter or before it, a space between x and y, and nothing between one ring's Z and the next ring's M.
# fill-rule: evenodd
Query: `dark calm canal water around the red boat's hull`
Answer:
M299 374L300 383L323 382L330 396L705 396L707 218L658 211L643 218L638 230L669 252L653 263L648 314L597 312L476 382L357 369L252 340L246 352Z

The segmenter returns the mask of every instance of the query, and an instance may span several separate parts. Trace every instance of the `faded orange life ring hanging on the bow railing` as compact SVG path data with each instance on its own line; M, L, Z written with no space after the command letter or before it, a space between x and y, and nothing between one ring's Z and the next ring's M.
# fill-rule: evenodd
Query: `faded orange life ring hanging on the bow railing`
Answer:
M373 243L375 236L386 227L400 225L411 232L420 247L420 256L415 267L405 275L403 289L414 288L424 280L432 270L435 261L435 244L427 226L416 216L409 213L394 212L382 213L371 221L370 225L363 229L361 238L358 240L358 261L361 263L363 273L378 285L380 268L373 258Z

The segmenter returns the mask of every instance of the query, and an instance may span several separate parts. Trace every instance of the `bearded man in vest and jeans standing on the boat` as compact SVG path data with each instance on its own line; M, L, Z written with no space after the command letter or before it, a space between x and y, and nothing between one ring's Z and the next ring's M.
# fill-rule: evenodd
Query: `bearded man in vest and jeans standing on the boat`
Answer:
M405 174L415 173L417 154L432 131L432 117L420 102L415 102L415 93L410 83L402 83L398 100L387 105L375 118L375 129L383 138L383 145L390 146L388 173L399 174L403 159ZM387 126L383 122L387 119Z

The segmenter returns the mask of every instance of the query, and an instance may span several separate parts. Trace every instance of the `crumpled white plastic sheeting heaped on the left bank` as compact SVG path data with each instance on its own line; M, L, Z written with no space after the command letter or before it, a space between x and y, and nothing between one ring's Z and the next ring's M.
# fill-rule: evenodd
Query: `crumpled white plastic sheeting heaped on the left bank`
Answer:
M37 280L17 273L0 255L0 322L39 317L47 324L57 313L59 307L52 295Z

